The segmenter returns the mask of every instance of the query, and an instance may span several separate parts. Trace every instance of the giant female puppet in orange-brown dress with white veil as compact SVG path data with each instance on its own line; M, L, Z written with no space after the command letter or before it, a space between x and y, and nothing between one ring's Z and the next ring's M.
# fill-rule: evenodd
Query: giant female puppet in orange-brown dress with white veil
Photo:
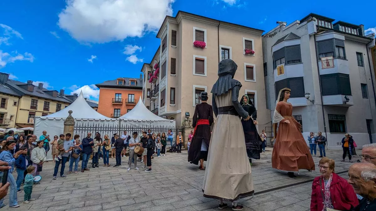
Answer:
M291 90L281 89L273 116L273 132L276 142L271 157L274 169L287 171L288 176L296 177L299 169L315 170L315 163L305 139L300 132L302 125L293 118L293 105L287 102ZM278 132L277 124L279 123ZM276 135L277 134L277 135Z

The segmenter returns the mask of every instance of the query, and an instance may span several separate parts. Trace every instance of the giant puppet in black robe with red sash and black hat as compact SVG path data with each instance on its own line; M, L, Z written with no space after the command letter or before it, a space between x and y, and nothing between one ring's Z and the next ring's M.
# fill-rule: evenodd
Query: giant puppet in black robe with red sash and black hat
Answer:
M204 160L208 158L208 149L211 138L210 126L213 124L213 108L207 103L208 93L201 92L199 95L201 103L196 105L193 116L194 132L188 152L188 161L198 165L205 170Z

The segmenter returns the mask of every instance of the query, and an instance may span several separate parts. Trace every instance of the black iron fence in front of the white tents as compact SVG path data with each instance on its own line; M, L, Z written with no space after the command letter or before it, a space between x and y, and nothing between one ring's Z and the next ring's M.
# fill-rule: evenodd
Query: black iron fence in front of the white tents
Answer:
M155 136L160 133L166 134L166 137L168 136L168 131L171 130L172 132L172 141L167 141L167 147L171 146L174 143L176 143L176 136L179 134L179 132L183 132L181 127L168 127L168 126L141 126L141 125L130 125L130 124L120 124L120 125L115 125L115 124L106 124L106 123L83 123L83 122L77 122L74 125L74 134L73 135L79 135L80 139L83 139L84 137L87 136L87 134L90 132L92 134L92 138L94 139L95 133L99 133L102 139L104 138L105 135L108 135L109 139L111 139L114 134L118 134L121 136L124 131L127 131L127 136L131 136L133 132L138 133L138 137L141 138L142 132L146 131L147 133L155 133Z

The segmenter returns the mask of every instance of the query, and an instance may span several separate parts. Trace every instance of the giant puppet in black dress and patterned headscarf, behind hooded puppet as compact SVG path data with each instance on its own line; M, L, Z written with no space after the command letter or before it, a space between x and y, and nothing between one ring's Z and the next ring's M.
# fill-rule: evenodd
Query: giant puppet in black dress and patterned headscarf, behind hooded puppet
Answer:
M249 163L252 165L252 158L259 160L260 153L262 152L262 141L261 137L257 132L256 125L258 122L257 111L253 102L250 101L248 95L243 95L240 100L240 105L248 113L249 116L252 116L252 119L244 120L241 119L241 125L243 126L244 139L246 140L246 149Z

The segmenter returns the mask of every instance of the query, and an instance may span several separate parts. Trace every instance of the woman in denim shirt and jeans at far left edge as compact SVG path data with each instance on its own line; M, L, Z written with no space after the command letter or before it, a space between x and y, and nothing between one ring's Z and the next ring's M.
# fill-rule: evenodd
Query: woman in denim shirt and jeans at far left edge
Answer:
M14 155L12 155L11 151L16 146L16 142L14 140L8 140L3 148L0 150L0 160L5 161L8 163L8 165L11 167L11 169L8 170L8 182L11 184L9 188L9 207L16 208L20 205L17 202L17 183L12 175L14 170L14 163L18 156L23 151L18 151ZM6 206L3 204L4 198L0 200L0 208Z

